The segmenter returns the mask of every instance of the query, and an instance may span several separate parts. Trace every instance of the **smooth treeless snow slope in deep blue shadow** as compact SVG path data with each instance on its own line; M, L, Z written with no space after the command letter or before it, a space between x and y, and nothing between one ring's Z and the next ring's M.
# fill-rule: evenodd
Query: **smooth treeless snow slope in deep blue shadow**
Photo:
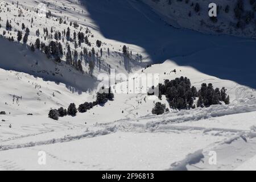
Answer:
M178 65L188 65L207 75L255 88L256 82L251 79L256 76L255 39L171 27L141 1L83 2L102 35L143 48L144 59L152 63L174 60Z

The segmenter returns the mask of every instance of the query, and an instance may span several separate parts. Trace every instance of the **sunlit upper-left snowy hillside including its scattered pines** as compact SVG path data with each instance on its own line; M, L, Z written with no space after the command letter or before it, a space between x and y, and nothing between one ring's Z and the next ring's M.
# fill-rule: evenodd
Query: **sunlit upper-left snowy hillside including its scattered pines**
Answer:
M48 58L57 61L69 60L67 53L70 47L71 63L68 64L78 69L81 60L85 76L89 76L89 73L94 76L101 72L108 73L110 68L129 73L146 65L142 63L143 56L140 57L143 49L137 46L126 44L131 55L129 59L125 59L122 55L124 44L104 38L97 24L90 19L90 15L79 1L14 3L6 0L1 1L0 7L2 25L0 34L3 37L16 42L20 31L21 38L18 42L27 44L27 49L30 49L32 44L36 49L36 39L39 39L38 49ZM10 27L7 26L7 21ZM27 28L28 40L24 43ZM61 44L62 47L57 53L55 53L55 43L57 46ZM11 65L7 69L12 69ZM13 69L24 72L26 68Z

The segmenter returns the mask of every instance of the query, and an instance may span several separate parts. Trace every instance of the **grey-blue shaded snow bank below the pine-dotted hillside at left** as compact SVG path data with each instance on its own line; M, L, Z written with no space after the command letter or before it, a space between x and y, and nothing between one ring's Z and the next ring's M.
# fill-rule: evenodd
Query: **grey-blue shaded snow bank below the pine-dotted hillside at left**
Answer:
M77 92L86 91L97 85L97 78L82 74L71 65L48 60L40 51L31 52L26 46L0 38L2 60L0 68L28 73L47 81L61 82ZM8 82L8 81L7 81Z

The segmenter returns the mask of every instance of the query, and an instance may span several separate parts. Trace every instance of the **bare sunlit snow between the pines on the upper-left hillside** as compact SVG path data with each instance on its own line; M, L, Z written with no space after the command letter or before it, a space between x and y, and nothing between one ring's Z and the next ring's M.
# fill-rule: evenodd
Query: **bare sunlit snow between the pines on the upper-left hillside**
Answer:
M45 16L40 15L40 3L43 3L42 5L47 5L46 12L50 11L52 15L51 17L46 18ZM60 32L61 37L57 42L60 42L63 45L63 51L66 53L67 44L71 46L71 51L75 50L75 41L72 42L66 40L64 30L67 31L67 28L70 28L71 38L73 38L74 32L76 32L76 35L78 32L84 32L85 36L88 36L90 45L82 43L81 47L76 48L76 50L79 53L78 58L82 60L82 67L86 73L85 76L89 74L89 63L86 56L80 56L80 52L83 51L83 48L88 49L88 52L94 48L95 52L98 54L95 58L96 63L93 71L94 76L96 77L98 73L108 73L110 68L113 68L118 72L129 73L145 65L138 60L138 56L136 55L137 53L141 54L143 49L134 45L126 44L126 46L129 47L129 51L133 52L133 56L131 56L131 59L125 60L122 56L122 47L124 44L122 42L104 38L97 27L97 24L90 18L89 13L85 10L84 6L81 5L80 1L47 1L47 3L45 1L26 1L19 2L19 4L16 5L13 1L6 0L1 1L0 6L2 10L0 20L2 28L0 28L0 34L3 35L3 32L5 31L6 34L3 36L5 38L11 38L13 36L15 42L17 31L22 31L23 36L25 34L25 30L22 30L22 23L24 23L25 27L30 29L27 45L31 46L31 44L35 44L37 38L39 38L41 42L49 44L51 40L55 41L55 33ZM7 11L9 11L9 13L7 13ZM22 15L19 15L20 12L22 12ZM60 18L63 20L63 23L61 24L59 23ZM7 20L10 21L10 24L13 27L10 31L5 30ZM74 27L71 23L78 23L79 27ZM46 35L46 32L44 32L44 28L48 29L48 36ZM39 30L40 32L39 36L36 35L36 30ZM96 40L102 42L100 48L96 46ZM30 49L30 47L27 49ZM102 55L100 49L102 49ZM2 51L5 51L5 49ZM38 57L37 59L41 60L42 57ZM62 59L65 61L65 55ZM8 69L10 69L10 67L8 67ZM24 69L22 71L24 71Z

